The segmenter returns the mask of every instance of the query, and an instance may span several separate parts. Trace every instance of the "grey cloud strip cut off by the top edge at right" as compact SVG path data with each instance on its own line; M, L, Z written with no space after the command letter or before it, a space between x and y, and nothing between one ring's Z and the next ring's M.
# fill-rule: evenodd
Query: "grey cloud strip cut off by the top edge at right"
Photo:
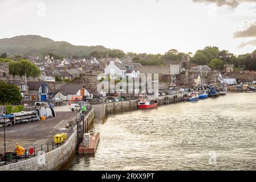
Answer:
M237 7L240 3L243 2L256 2L256 0L193 0L197 3L215 3L217 6L230 6L232 8Z

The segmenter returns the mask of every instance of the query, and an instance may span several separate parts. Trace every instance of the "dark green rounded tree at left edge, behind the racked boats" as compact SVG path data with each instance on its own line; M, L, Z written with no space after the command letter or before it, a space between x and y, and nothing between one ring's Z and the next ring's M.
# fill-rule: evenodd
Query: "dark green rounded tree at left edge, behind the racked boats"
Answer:
M0 102L5 104L17 104L22 101L21 92L18 86L7 84L0 80Z

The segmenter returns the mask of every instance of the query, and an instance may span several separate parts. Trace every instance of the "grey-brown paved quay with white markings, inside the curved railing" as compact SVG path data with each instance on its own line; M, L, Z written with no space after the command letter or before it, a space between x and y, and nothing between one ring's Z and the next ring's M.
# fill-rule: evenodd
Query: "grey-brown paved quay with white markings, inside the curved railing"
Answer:
M68 106L55 107L54 118L6 127L6 151L14 151L17 142L22 147L37 147L54 140L54 135L62 133L68 121L75 117L75 112L68 109ZM1 127L0 154L4 153L3 143L3 127Z

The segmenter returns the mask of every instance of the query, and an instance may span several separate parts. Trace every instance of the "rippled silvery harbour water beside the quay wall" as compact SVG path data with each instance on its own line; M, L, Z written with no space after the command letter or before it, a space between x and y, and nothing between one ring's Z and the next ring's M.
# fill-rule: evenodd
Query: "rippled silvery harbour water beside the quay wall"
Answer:
M229 93L112 115L94 126L95 157L70 170L255 170L255 113L255 93Z

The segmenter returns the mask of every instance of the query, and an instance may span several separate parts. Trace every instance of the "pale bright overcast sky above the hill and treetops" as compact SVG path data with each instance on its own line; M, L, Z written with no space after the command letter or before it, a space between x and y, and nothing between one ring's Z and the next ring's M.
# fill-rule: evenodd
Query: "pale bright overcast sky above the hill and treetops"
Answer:
M256 49L256 0L1 0L0 39L40 35L124 52Z

